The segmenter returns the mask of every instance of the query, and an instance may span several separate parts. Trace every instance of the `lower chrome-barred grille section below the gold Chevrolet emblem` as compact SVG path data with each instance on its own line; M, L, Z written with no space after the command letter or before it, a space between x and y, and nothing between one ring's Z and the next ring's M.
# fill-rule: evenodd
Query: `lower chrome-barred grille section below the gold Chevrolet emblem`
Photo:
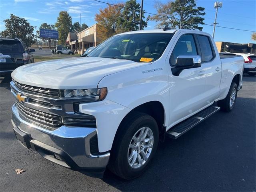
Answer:
M24 116L25 118L27 118L32 122L35 122L36 124L51 127L50 129L54 129L54 127L56 128L62 125L61 116L53 115L53 114L42 112L36 109L25 107L18 102L16 102L16 106L20 111L20 113L22 114L22 116Z

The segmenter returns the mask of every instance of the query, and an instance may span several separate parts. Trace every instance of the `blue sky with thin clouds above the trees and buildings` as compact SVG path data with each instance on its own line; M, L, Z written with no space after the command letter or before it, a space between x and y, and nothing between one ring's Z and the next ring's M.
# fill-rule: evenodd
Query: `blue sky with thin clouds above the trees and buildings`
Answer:
M101 0L111 4L125 2L126 0ZM160 0L162 3L168 0ZM141 0L137 0L141 3ZM144 0L143 9L146 12L156 14L154 0ZM205 24L212 24L215 17L215 0L196 0L196 5L205 8ZM220 2L220 1L219 1ZM222 0L222 8L218 10L218 26L238 28L256 32L256 0ZM0 0L0 31L5 29L3 20L10 18L10 14L23 17L32 26L40 26L43 22L55 24L58 13L67 11L72 16L72 22L85 23L88 26L95 24L94 16L100 8L107 4L94 0ZM145 14L147 18L148 14ZM154 29L156 22L149 21L145 30ZM251 40L252 32L232 30L216 27L215 41L256 43ZM213 26L203 25L203 31L212 34Z

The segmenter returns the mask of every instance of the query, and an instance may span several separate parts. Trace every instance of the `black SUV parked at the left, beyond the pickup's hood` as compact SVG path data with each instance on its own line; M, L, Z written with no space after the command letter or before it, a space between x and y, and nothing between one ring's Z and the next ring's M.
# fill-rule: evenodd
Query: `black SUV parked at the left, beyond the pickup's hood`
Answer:
M24 64L33 63L34 58L26 44L20 39L0 38L0 74L10 73Z

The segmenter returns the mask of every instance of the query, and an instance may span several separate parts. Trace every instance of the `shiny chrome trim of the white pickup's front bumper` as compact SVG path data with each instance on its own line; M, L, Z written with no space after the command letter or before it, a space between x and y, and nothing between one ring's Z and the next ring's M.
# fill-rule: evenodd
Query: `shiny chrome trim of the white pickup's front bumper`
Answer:
M12 124L33 140L66 152L80 167L102 168L108 164L109 152L90 153L90 138L97 134L96 128L60 126L50 131L22 119L15 104L12 106Z

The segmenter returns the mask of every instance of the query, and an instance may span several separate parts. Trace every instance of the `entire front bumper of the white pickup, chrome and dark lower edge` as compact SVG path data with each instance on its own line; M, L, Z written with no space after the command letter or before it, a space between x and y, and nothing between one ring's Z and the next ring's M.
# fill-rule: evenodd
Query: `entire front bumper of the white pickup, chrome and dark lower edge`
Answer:
M97 134L96 128L61 126L53 131L46 130L20 116L15 104L12 106L12 124L18 141L26 148L34 149L64 167L103 176L110 153L91 154L90 139Z

